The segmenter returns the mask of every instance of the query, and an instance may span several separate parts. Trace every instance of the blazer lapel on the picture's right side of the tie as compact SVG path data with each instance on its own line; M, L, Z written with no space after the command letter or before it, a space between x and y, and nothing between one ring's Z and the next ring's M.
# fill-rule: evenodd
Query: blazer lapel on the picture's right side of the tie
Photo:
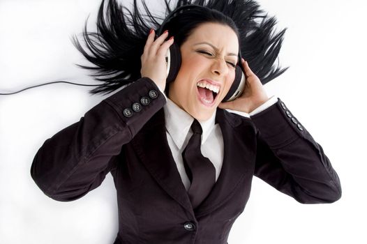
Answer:
M237 126L241 124L241 119L228 113L225 114L223 109L217 109L216 122L219 123L223 134L223 166L213 190L202 204L195 209L196 216L214 211L215 208L218 208L230 198L230 195L234 190L237 190L248 173L253 175L254 163L251 160L255 160L254 151L246 144L247 138L241 135L244 133L236 130ZM251 127L250 123L248 126ZM248 132L250 131L248 130ZM253 144L250 140L251 136L248 135L248 137L248 143ZM250 188L250 185L248 187Z

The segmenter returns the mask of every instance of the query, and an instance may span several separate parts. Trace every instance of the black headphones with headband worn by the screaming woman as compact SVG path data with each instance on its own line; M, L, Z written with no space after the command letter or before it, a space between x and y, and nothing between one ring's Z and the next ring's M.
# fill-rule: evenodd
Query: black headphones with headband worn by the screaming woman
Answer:
M197 6L197 5L185 5L181 6L175 10L173 10L162 24L160 24L160 28L156 31L156 38L160 36L163 33L163 28L167 24L167 22L170 22L173 17L176 17L180 13L186 10L191 10L193 8L204 8L207 9L204 6ZM176 79L177 74L179 73L179 68L181 67L181 52L180 47L176 43L173 43L170 47L170 49L167 52L166 55L166 62L167 62L167 83L173 82L174 79ZM236 65L235 68L235 76L232 86L230 87L230 90L228 91L225 98L223 98L223 102L232 101L239 96L241 96L242 91L244 91L246 77L244 75L244 71L242 70L241 66L241 50L239 50L239 62Z

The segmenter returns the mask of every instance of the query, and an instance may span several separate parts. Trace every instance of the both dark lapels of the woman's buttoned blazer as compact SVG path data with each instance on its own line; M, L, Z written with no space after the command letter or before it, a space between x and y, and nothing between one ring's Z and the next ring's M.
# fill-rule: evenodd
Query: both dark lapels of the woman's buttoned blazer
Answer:
M251 141L253 139L252 125L248 124L250 130L246 130L247 135L240 129L243 126L239 127L242 123L241 119L232 116L223 109L217 109L216 122L219 123L223 135L223 166L213 190L202 204L195 209L196 217L214 211L224 204L238 187L243 187L241 181L244 180L244 177L248 174L253 175L253 160L255 160L253 147L255 144ZM163 109L160 109L144 125L131 143L147 171L158 185L194 215L190 199L181 181L170 146L168 146ZM248 185L248 188L250 188L250 185Z

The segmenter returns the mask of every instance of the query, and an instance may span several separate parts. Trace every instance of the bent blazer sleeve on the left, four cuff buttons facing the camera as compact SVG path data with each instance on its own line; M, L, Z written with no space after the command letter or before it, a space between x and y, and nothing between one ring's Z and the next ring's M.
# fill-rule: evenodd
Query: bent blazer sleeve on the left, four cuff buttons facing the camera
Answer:
M165 102L147 77L114 93L45 141L31 165L33 180L45 195L59 201L86 195L114 170L112 158Z

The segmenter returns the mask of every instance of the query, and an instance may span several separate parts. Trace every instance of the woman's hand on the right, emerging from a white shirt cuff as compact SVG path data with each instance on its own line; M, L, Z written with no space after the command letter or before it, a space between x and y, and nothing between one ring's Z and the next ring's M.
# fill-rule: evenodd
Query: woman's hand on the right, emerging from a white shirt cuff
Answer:
M244 67L246 84L244 92L241 96L230 102L220 102L219 106L221 109L232 109L240 112L250 113L254 109L262 105L264 102L269 100L267 93L260 82L260 79L250 70L248 63L241 60L242 66Z

